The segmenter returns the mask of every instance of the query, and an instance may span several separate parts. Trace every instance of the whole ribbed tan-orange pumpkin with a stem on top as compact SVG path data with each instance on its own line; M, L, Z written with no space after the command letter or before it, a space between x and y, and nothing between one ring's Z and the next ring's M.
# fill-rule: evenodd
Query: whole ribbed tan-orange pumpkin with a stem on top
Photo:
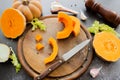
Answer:
M12 7L20 10L27 21L38 18L42 14L42 6L39 0L14 0Z

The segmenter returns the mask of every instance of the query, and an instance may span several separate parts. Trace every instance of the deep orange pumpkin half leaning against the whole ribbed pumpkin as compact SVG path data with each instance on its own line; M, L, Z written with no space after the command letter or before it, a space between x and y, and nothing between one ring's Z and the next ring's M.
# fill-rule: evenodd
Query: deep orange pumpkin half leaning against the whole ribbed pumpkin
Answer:
M6 9L1 16L1 30L7 38L17 38L26 27L26 20L23 14L13 8Z

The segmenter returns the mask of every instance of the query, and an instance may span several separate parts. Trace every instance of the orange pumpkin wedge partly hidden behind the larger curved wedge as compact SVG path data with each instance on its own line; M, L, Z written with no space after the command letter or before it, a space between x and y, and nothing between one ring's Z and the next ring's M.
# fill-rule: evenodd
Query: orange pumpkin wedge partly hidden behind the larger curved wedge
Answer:
M70 18L73 21L73 27L74 27L73 33L74 33L74 36L77 36L80 33L80 20L77 17L74 17L74 16L70 16Z

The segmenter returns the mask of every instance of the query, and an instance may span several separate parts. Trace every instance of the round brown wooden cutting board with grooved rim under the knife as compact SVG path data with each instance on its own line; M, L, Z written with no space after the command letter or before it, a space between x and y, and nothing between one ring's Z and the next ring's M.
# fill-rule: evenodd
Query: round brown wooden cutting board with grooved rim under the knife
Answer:
M58 21L57 16L46 16L41 18L44 24L47 26L46 31L40 31L36 29L34 32L29 29L26 33L19 39L18 42L18 58L27 70L27 72L36 77L40 73L43 73L51 64L57 61L61 56L72 49L74 46L80 42L91 39L90 33L87 29L81 25L80 34L77 37L74 37L71 34L68 38L63 40L57 40L59 52L56 59L45 65L44 59L50 55L52 48L48 43L48 39L53 37L56 39L56 34L58 31L64 28L64 25ZM42 35L42 41L40 43L44 44L44 49L37 51L36 50L36 41L35 36L37 34ZM92 46L91 44L86 46L83 50L79 51L75 56L69 59L67 62L62 64L52 73L50 73L46 79L74 79L80 76L87 67L89 66L92 60Z

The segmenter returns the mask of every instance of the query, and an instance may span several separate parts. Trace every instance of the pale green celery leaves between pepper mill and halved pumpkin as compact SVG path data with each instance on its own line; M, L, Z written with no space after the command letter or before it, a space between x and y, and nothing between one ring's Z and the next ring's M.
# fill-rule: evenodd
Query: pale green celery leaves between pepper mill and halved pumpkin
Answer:
M91 27L88 27L88 30L93 34L96 34L101 31L112 32L116 36L120 37L120 34L117 33L113 28L103 23L100 24L99 21L95 21Z

